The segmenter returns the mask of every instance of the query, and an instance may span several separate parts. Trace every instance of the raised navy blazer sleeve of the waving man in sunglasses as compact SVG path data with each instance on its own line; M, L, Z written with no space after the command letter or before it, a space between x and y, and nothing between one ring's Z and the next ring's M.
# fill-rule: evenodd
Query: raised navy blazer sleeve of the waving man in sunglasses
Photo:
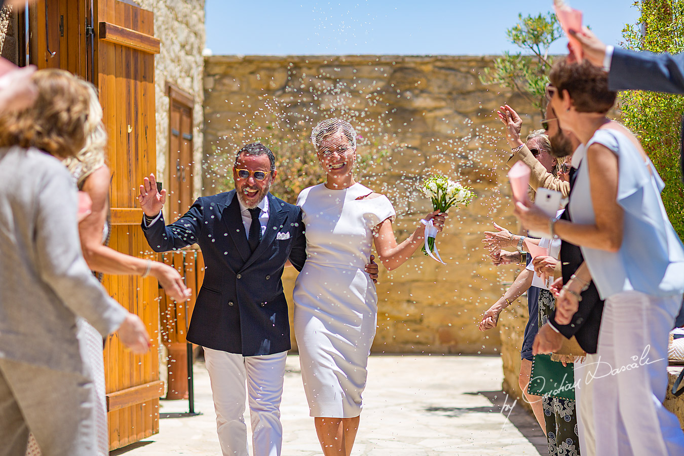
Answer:
M164 223L161 215L158 220L147 225L143 217L142 231L147 243L155 252L178 250L186 245L197 243L204 219L204 202L198 198L183 217L170 225Z

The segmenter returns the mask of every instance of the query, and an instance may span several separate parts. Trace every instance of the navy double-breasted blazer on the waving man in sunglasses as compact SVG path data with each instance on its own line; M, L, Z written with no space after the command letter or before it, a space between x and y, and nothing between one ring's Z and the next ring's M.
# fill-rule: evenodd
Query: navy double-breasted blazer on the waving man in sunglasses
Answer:
M269 219L254 253L247 243L235 190L198 198L166 225L146 227L155 252L198 243L205 260L205 279L198 294L187 340L202 347L270 355L290 349L287 300L282 270L289 259L301 271L306 260L302 210L267 193Z

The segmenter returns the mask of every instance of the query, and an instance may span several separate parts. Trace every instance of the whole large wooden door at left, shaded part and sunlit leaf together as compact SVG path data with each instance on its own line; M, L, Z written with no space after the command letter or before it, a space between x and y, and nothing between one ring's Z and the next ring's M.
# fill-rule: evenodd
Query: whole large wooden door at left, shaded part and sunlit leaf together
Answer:
M46 10L47 4L47 10ZM110 247L157 259L140 230L135 193L156 172L154 15L118 0L38 0L29 7L29 59L38 68L62 68L100 92L109 134ZM124 349L117 336L105 345L109 447L120 448L159 431L159 299L151 277L105 276L109 294L139 315L152 338L144 356Z

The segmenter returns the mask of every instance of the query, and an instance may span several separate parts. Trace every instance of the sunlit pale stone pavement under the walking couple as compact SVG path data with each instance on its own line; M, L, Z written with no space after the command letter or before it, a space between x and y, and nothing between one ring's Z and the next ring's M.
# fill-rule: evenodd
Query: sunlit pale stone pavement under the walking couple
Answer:
M534 417L519 404L510 410L512 401L500 390L499 356L371 356L368 370L352 456L547 454ZM179 416L187 401L161 401L159 433L111 456L220 455L203 362L194 373L195 410L202 414ZM321 455L298 356L287 358L280 410L282 456Z

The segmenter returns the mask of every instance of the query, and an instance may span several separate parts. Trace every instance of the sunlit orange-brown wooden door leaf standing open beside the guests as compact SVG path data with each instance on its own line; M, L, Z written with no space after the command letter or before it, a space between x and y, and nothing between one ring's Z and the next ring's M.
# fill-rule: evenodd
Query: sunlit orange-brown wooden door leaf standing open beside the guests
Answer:
M155 53L153 13L118 0L96 1L94 62L109 133L111 182L109 245L126 254L155 258L140 229L135 196L144 176L156 172ZM140 315L153 346L144 356L124 349L116 336L105 346L109 445L119 448L159 431L158 286L153 278L105 276L112 297Z

